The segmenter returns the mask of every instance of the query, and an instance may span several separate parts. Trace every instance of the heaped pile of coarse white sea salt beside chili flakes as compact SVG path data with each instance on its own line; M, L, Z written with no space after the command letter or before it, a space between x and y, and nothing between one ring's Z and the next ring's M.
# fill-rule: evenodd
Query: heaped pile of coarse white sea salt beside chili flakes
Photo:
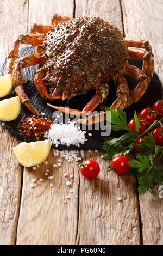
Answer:
M68 121L68 124L53 124L51 128L45 132L44 137L48 138L51 144L58 147L59 144L74 145L80 147L87 139L85 138L86 131L82 131L76 125L76 121Z

